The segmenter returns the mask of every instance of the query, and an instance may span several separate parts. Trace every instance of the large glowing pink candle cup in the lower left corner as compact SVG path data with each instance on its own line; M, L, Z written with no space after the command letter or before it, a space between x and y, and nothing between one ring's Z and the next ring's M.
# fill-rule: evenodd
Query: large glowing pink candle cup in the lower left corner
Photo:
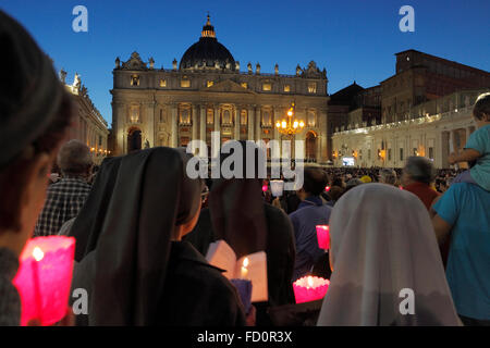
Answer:
M36 237L27 241L13 279L21 296L22 326L33 319L48 326L66 315L74 253L73 237Z

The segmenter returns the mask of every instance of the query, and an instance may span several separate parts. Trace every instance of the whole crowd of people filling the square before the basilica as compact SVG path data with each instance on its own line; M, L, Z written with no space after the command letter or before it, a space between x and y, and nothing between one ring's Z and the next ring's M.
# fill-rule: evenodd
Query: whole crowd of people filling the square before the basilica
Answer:
M50 59L1 11L0 40L13 63L0 82L0 325L20 324L12 279L26 241L50 235L76 239L72 288L89 299L76 325L284 324L305 275L330 285L299 324L490 325L490 95L475 104L465 151L451 154L469 171L422 157L401 170L308 166L302 187L272 197L258 165L247 178L189 177L184 149L108 158L95 171L89 149L65 141L75 111ZM246 172L250 158L240 160ZM328 251L317 225L330 227ZM237 258L266 252L268 300L245 310L205 258L217 240Z

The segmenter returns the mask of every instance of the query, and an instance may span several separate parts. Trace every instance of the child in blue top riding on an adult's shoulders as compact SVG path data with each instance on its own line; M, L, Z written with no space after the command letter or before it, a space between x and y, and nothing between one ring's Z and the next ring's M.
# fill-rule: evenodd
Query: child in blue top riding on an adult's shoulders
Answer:
M460 153L451 153L449 163L473 162L476 164L460 174L453 183L477 184L490 190L490 92L478 97L473 109L473 116L478 129L475 130Z

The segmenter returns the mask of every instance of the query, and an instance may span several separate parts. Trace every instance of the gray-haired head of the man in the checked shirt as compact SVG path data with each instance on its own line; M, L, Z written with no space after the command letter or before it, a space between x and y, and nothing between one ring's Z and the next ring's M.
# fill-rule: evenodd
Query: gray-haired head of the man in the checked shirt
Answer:
M58 166L64 175L87 175L93 165L90 149L79 140L70 140L58 152Z

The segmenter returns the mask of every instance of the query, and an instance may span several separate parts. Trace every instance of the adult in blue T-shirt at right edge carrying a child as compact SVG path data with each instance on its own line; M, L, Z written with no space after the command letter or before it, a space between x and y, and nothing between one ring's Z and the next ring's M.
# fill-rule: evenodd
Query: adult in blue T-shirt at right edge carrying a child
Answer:
M451 235L448 284L465 325L490 325L490 191L456 183L433 206L439 244Z

